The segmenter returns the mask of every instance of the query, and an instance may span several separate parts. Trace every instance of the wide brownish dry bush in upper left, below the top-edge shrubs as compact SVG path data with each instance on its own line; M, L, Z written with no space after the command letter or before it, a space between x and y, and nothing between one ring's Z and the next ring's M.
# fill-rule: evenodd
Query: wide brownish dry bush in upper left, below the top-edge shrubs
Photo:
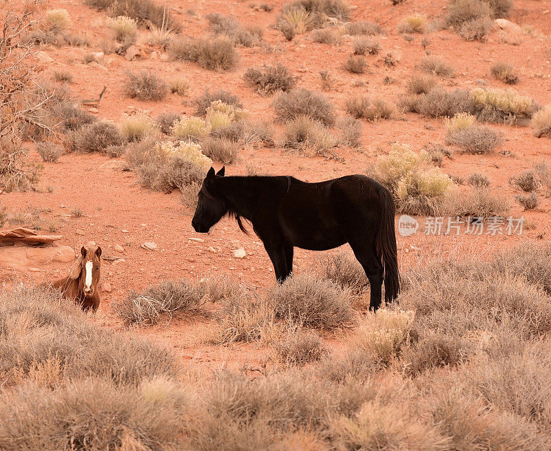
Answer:
M176 60L192 61L208 70L229 70L239 59L233 43L225 36L174 39L168 52Z

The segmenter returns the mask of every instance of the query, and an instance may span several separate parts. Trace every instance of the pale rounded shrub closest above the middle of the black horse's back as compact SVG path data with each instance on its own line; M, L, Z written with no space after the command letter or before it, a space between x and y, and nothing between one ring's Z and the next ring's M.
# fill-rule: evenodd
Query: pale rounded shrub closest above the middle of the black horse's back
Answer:
M337 140L324 125L309 118L298 116L285 124L282 147L295 149L306 155L333 156Z

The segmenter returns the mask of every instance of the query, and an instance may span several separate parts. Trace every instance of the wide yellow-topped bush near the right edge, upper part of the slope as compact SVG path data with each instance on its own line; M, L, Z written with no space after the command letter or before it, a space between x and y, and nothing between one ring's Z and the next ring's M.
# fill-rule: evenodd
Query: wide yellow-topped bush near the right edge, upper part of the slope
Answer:
M530 98L512 90L480 87L469 93L473 114L483 122L526 125L539 106Z

